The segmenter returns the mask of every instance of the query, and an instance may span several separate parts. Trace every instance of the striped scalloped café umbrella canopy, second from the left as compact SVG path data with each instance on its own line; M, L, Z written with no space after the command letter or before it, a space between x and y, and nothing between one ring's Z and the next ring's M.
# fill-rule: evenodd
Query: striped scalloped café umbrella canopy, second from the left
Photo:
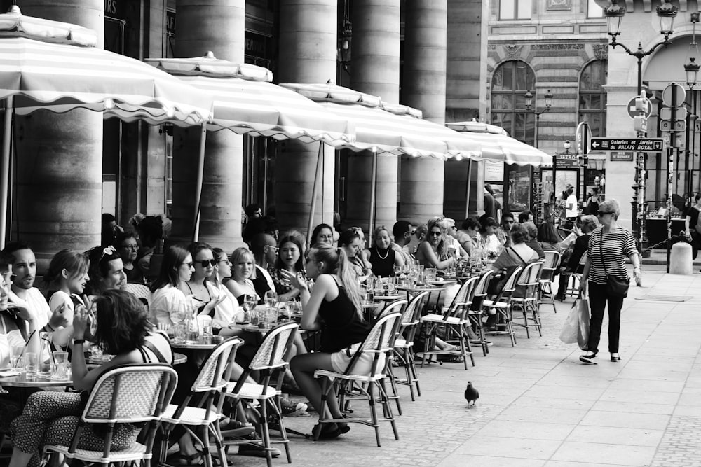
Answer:
M348 120L319 104L271 83L266 68L203 57L145 60L183 83L214 98L214 116L207 130L231 130L238 134L323 141L339 146L353 141Z

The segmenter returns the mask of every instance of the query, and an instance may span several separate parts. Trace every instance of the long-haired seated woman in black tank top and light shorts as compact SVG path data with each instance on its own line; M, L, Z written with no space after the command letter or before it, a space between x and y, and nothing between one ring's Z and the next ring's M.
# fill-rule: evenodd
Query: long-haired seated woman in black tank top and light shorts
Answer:
M287 273L287 279L299 290L304 310L301 328L320 329L321 348L314 354L295 356L290 362L290 368L294 380L320 413L321 385L314 378L315 370L338 371L334 358L345 354L344 349L365 340L369 328L360 311L358 281L343 249L315 244L307 252L306 275L315 279L311 294L302 277ZM329 398L328 405L332 417L342 418L335 397ZM320 439L336 438L349 429L348 424L325 424L323 428L315 426L315 430L321 430Z

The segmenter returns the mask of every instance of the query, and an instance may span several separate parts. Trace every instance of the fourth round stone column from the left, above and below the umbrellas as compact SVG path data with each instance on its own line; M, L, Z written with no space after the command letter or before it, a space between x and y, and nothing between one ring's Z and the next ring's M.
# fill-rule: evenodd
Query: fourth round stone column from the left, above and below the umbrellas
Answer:
M376 95L384 102L399 102L400 0L353 2L351 88ZM391 230L397 221L398 158L379 154L375 225ZM372 190L372 153L348 155L346 221L367 226ZM352 195L351 195L352 193Z

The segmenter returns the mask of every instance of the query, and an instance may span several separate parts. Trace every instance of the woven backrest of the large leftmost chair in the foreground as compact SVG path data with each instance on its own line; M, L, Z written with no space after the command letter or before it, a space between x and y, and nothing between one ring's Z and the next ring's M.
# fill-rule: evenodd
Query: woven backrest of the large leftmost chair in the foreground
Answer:
M161 416L177 384L177 373L163 363L118 365L100 376L82 418L87 423L139 423Z

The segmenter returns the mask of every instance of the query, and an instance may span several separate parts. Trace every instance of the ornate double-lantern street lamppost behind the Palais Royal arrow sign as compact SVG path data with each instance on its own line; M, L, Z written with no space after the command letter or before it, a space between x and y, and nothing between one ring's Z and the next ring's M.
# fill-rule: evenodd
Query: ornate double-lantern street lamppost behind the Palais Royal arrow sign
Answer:
M625 6L619 5L618 0L611 0L611 5L604 8L604 15L606 16L606 21L608 22L608 35L611 36L611 43L609 44L611 48L620 46L628 55L637 58L638 60L638 96L641 95L643 90L643 58L647 57L653 53L658 47L667 47L672 41L669 41L669 36L672 35L674 26L674 18L676 18L676 13L679 8L669 3L669 0L663 0L662 4L657 7L657 15L660 19L660 34L665 36L665 40L662 42L655 43L649 50L643 50L642 43L638 43L637 50L630 50L624 44L616 41L616 38L620 35L620 20L622 20L623 15L625 15ZM645 137L646 132L637 132L637 137ZM633 214L633 236L636 239L638 251L642 253L643 249L647 243L647 238L645 235L645 153L638 153L636 158L635 166L635 179L633 183L633 200L632 214Z

